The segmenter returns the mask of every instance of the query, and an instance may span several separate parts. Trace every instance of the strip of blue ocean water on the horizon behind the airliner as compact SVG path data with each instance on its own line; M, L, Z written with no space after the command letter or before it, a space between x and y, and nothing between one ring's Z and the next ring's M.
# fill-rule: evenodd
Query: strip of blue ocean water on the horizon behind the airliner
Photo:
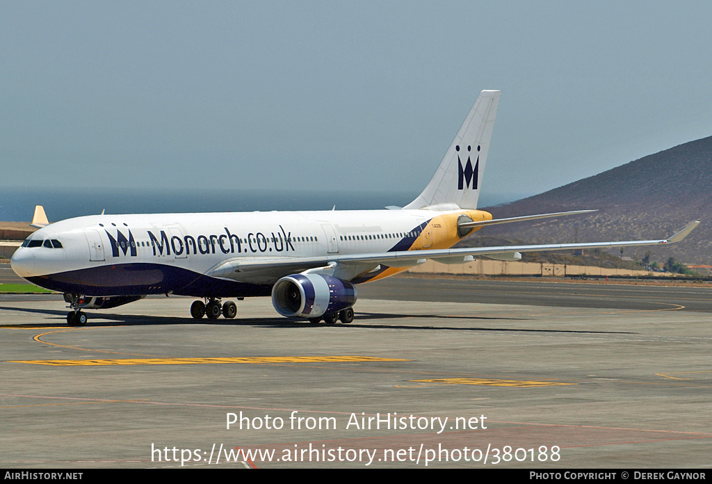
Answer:
M0 221L31 221L36 205L49 221L100 214L164 214L270 210L376 210L404 206L419 191L298 191L118 188L0 188ZM511 201L485 196L479 206Z

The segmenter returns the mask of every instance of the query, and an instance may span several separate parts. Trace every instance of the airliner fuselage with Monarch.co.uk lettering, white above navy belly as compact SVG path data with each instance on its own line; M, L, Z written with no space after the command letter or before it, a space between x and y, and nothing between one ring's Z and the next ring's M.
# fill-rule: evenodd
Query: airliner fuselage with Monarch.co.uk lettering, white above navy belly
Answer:
M32 283L66 293L266 295L267 286L293 272L285 266L288 260L328 261L330 255L430 248L428 222L441 214L377 210L84 216L36 231L12 264ZM211 275L226 261L281 265L258 277ZM378 265L353 265L345 280L364 282L362 274Z

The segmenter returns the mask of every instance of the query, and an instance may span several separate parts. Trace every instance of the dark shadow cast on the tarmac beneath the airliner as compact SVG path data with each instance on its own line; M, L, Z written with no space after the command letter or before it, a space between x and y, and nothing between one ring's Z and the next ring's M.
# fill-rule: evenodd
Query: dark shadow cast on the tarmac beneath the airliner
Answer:
M76 329L66 324L66 311L33 309L23 307L4 307L1 310L12 310L21 312L32 312L35 314L48 315L51 322L31 323L25 325L12 325L12 327L32 328L32 327L57 327ZM117 315L110 313L93 313L93 318L89 319L86 327L110 327L110 326L143 326L143 325L217 325L217 326L259 326L275 328L308 328L315 325L304 320L289 320L283 317L250 317L236 318L234 320L194 320L192 317L173 316L145 316L145 315ZM389 314L382 312L360 312L357 313L358 320L403 320L408 318L434 319L434 320L518 320L525 321L529 318L523 317L480 317L480 316L447 316L447 315L404 315ZM108 321L107 321L108 320ZM325 326L325 325L320 325ZM634 332L624 331L592 331L592 330L541 330L536 328L512 328L512 327L453 327L453 326L431 326L431 325L394 325L394 324L359 324L350 323L348 325L337 324L330 326L333 328L362 328L362 329L387 329L387 330L435 330L435 331L495 331L495 332L542 332L542 333L581 333L581 334L606 334L606 335L632 335Z

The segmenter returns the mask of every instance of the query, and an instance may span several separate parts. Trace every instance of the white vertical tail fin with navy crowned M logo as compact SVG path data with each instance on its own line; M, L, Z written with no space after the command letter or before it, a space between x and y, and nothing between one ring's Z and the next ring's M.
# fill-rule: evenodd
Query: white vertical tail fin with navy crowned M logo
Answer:
M404 209L476 209L499 90L483 90L422 194Z

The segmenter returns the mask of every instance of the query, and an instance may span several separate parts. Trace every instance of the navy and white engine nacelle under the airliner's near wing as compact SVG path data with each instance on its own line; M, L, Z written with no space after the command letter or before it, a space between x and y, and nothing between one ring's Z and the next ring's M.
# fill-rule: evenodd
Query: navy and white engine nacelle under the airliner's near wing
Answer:
M330 275L288 275L272 288L274 308L287 317L320 317L351 307L354 302L354 285Z

